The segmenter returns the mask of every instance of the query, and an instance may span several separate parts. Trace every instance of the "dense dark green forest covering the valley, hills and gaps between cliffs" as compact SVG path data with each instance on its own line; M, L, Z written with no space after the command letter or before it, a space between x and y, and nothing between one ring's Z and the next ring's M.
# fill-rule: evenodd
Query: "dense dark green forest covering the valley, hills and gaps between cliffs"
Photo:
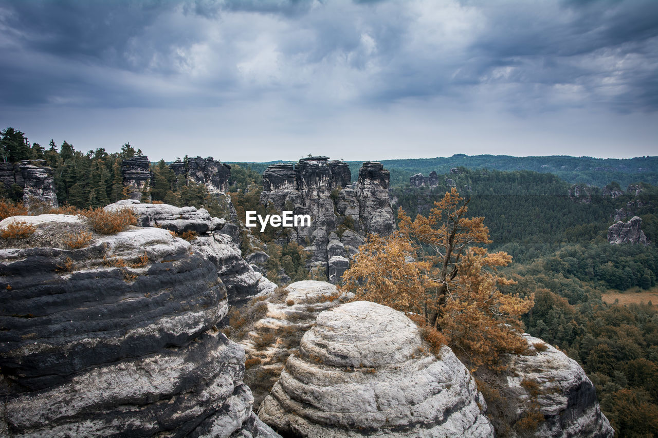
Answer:
M63 141L47 148L30 143L17 130L1 132L0 153L5 162L42 159L54 170L57 198L79 208L102 207L126 197L120 174L121 160L141 155L126 143L118 153L104 149L76 150ZM490 166L497 163L495 166ZM230 196L243 217L245 210L265 212L259 204L261 172L269 163L232 166ZM356 178L361 162L350 162ZM467 157L427 160L392 160L394 207L428 214L445 194L447 183L470 199L470 216L484 216L492 243L490 251L506 251L514 262L501 272L517 281L507 292L534 293L534 307L524 317L528 333L541 337L577 360L597 387L601 408L620 436L658 436L658 313L653 303L605 303L611 290L657 291L658 278L658 158L600 160L574 157ZM530 168L534 166L534 168ZM495 167L495 168L494 168ZM449 173L451 168L457 169ZM440 187L410 187L409 175L439 173ZM205 187L180 180L164 160L151 165L153 201L193 205L226 216L226 206L210 197ZM406 178L406 179L405 179ZM446 182L446 178L451 182ZM588 183L588 193L569 195L572 184ZM640 193L624 187L638 183ZM607 190L606 190L607 186ZM18 201L20 187L0 188L0 195ZM620 195L609 195L619 189ZM605 194L607 193L607 195ZM617 210L624 208L642 218L649 245L611 245L607 228ZM630 216L626 216L630 217ZM624 219L625 220L625 219ZM280 281L320 279L303 266L305 252L296 244L280 245L282 230L255 231L251 239L243 229L243 253L266 244L270 256L268 277ZM282 271L283 270L283 271ZM657 303L658 304L658 303Z

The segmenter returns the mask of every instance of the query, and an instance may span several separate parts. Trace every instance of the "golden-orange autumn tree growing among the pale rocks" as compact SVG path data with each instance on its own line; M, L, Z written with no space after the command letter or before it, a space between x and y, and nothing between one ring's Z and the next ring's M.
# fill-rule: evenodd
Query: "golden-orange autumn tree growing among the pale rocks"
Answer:
M386 304L424 316L453 348L475 366L493 364L500 353L524 351L520 316L533 297L506 295L498 286L513 281L497 274L511 256L489 254L484 218L467 218L468 201L453 188L427 217L399 212L399 231L370 237L359 248L343 289L355 299Z

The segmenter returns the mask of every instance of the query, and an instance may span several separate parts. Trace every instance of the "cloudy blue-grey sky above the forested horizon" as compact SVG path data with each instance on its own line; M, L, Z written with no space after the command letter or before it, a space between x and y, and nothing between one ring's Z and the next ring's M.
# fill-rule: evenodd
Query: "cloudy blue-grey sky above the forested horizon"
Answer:
M658 0L0 0L0 54L43 146L658 155Z

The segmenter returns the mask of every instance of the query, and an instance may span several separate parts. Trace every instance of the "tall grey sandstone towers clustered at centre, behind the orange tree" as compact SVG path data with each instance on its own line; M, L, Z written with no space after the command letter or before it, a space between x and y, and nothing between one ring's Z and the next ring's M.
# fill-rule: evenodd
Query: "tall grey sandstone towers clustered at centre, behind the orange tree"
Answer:
M395 228L388 196L389 172L378 162L364 162L351 183L347 163L309 157L274 164L263 173L261 203L274 210L311 215L311 226L292 228L289 239L306 245L311 266L336 283L367 233L388 235Z

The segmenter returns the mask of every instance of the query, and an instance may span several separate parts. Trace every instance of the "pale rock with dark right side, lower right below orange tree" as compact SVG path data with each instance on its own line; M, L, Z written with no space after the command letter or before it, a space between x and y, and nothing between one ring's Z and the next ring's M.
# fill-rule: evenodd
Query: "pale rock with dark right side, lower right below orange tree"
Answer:
M601 413L595 387L566 354L524 334L531 354L510 354L507 368L478 370L492 397L488 409L497 431L510 437L613 437ZM528 421L534 418L533 421ZM532 427L528 427L532 426Z

